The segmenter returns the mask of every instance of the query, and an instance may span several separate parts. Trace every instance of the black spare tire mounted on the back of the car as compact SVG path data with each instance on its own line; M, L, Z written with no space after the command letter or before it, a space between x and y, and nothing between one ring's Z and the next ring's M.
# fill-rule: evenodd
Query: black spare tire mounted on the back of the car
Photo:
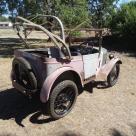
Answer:
M13 80L22 85L29 93L37 90L37 79L30 63L22 57L14 58L12 63Z

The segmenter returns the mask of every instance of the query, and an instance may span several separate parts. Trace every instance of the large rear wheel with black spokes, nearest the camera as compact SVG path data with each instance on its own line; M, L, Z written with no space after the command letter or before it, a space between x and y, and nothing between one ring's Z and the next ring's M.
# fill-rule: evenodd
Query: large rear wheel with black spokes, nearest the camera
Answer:
M58 83L52 90L48 101L50 116L53 119L59 119L66 116L74 107L77 95L78 89L73 81L64 80ZM62 108L65 108L65 110ZM57 109L61 109L63 111L57 111Z

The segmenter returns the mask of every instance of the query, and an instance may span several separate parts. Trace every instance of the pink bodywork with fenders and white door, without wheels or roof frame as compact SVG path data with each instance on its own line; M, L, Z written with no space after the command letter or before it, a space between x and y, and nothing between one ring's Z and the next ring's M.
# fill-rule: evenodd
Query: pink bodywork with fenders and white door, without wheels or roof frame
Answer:
M119 61L119 58L113 58L108 63L103 64L103 55L106 50L102 49L101 53L73 56L71 61L65 59L57 60L56 58L40 58L36 54L27 51L34 49L16 50L15 57L26 58L33 67L37 68L38 78L41 81L40 100L45 103L54 82L66 71L73 71L80 77L82 86L85 80L95 76L95 81L106 81L108 74L113 66ZM105 51L105 52L104 52ZM91 79L92 80L92 79Z

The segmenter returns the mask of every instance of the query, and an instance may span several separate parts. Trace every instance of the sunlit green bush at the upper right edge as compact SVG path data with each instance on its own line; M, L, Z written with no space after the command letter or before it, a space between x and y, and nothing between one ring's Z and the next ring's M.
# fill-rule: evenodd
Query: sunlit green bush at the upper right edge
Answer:
M113 32L136 37L136 2L123 4L112 17L110 27Z

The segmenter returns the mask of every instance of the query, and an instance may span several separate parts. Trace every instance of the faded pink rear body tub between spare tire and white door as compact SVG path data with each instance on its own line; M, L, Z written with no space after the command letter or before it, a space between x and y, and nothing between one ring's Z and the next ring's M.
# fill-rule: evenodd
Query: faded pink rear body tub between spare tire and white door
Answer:
M16 57L24 57L29 63L33 66L35 73L37 73L38 78L44 80L57 69L62 67L71 67L78 73L83 76L83 61L82 56L73 56L71 61L65 59L56 59L56 58L46 58L37 56L34 53L29 53L29 51L35 51L34 49L25 49L25 50L16 50Z

